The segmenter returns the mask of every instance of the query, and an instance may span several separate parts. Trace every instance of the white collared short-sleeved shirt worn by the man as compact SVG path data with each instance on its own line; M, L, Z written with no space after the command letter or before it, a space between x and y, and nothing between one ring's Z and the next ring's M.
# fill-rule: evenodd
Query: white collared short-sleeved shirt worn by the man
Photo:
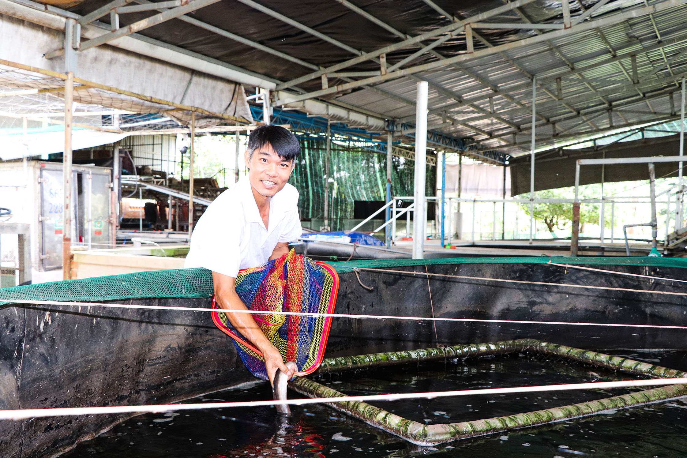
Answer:
M241 268L269 260L279 242L302 234L298 191L286 183L269 204L267 229L248 180L220 194L196 223L184 268L204 267L236 278Z

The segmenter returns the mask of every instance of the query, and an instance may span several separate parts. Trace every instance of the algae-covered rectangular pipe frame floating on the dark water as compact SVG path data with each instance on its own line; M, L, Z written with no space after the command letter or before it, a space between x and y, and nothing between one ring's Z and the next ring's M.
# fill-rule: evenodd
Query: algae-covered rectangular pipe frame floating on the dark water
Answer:
M438 360L444 357L480 356L487 354L503 354L510 352L528 351L539 354L556 355L561 358L576 360L581 363L607 367L633 374L659 376L665 378L681 377L682 371L675 371L666 367L649 365L640 361L620 358L598 352L590 352L565 345L556 345L537 341L535 339L519 339L471 345L456 345L426 350L412 350L409 352L377 353L346 358L329 358L323 371L343 371L362 367L381 367L394 364L412 363L418 360ZM324 362L323 362L324 365ZM295 391L311 398L335 398L346 396L335 389L325 387L304 377L297 377L289 383ZM518 428L528 428L542 424L550 424L570 420L572 418L594 415L608 410L637 407L643 404L662 402L687 395L687 385L670 385L654 389L646 389L634 393L627 393L611 398L603 398L579 404L554 407L541 411L517 413L504 417L487 418L472 422L426 425L408 420L394 413L374 407L366 402L348 401L333 402L329 405L352 417L376 426L388 433L392 433L408 442L422 446L431 446L466 439L480 435L488 435L510 431Z

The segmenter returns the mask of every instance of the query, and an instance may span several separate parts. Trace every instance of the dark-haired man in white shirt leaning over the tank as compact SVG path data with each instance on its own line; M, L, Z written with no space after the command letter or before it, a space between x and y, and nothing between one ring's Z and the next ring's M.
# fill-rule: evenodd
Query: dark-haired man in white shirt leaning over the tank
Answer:
M226 310L247 310L236 294L240 268L264 264L289 252L289 242L301 236L298 191L286 183L300 145L280 126L260 126L248 140L244 160L248 180L220 194L198 220L184 268L212 271L215 300ZM289 378L293 369L262 334L251 314L227 313L234 328L264 355L270 382L277 369Z

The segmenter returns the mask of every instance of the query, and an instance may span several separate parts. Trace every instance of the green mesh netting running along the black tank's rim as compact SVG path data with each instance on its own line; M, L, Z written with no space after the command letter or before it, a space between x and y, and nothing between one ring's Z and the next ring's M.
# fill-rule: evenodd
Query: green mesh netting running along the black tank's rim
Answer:
M333 262L337 273L359 268L394 268L434 264L581 264L600 266L655 266L687 268L687 259L675 257L453 257L433 260L368 260ZM146 297L212 297L212 273L204 268L172 269L108 275L67 282L47 282L0 288L0 304L14 301L114 301Z

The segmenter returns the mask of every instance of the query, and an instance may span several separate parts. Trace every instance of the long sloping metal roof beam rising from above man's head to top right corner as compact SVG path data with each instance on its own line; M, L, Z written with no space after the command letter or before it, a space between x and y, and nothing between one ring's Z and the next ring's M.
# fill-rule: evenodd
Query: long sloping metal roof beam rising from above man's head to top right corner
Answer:
M515 2L509 3L509 5L513 5L513 4L515 4ZM401 69L401 70L392 71L390 73L387 73L386 75L380 75L380 76L374 76L371 78L365 78L363 80L358 80L358 81L354 81L354 82L350 82L350 83L346 83L346 84L339 84L335 87L330 87L328 89L322 89L320 91L313 91L311 93L306 93L306 94L302 94L302 95L294 95L293 97L286 98L285 100L278 100L278 102L276 102L276 104L281 105L281 104L287 104L287 103L291 103L291 102L298 102L300 100L307 100L309 98L321 97L322 95L339 93L341 91L346 91L348 89L355 89L355 88L361 87L365 84L374 84L377 82L393 80L396 78L400 78L402 76L412 75L412 74L418 73L420 71L429 71L429 70L433 70L433 69L438 69L441 67L446 67L447 65L451 65L453 63L464 62L466 60L474 60L476 58L482 58L482 57L490 56L491 54L497 54L500 51L506 51L509 49L526 47L528 45L533 45L535 43L541 43L542 41L548 41L548 40L551 40L552 38L561 38L563 36L569 36L569 35L578 34L581 32L587 32L589 30L594 30L596 27L616 25L618 23L622 23L624 21L627 21L627 19L633 19L636 17L645 16L645 15L653 13L653 12L661 12L664 10L668 10L669 8L674 8L675 6L685 5L685 4L687 4L687 0L664 0L660 3L655 3L651 6L637 8L635 10L629 10L626 12L620 12L618 14L613 14L611 16L607 16L603 19L596 19L594 21L587 21L585 23L574 25L574 26L570 27L569 29L556 30L554 32L548 32L546 34L541 34L539 36L532 36L530 38L525 38L523 40L505 43L504 45L498 45L498 46L495 46L493 48L480 49L478 51L475 51L472 54L461 54L458 56L453 56L453 57L448 58L446 60L440 60L437 62L428 62L427 64L424 64L424 65L416 65L415 67L410 67L408 69ZM324 72L324 73L326 73L326 72ZM317 76L319 76L319 74Z

